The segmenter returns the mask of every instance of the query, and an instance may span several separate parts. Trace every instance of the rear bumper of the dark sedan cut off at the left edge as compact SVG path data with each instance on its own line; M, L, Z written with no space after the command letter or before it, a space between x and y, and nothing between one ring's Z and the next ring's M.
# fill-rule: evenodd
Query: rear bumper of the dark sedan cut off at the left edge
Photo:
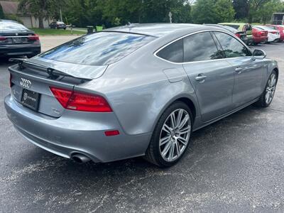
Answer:
M38 55L40 50L40 43L0 45L0 57L9 57L14 55Z

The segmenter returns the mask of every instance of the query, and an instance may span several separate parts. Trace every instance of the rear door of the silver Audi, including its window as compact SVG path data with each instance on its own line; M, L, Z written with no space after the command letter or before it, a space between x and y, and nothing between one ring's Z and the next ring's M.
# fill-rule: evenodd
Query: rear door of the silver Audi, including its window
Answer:
M231 110L234 70L224 60L212 34L189 35L184 40L184 64L200 106L202 121L210 121Z

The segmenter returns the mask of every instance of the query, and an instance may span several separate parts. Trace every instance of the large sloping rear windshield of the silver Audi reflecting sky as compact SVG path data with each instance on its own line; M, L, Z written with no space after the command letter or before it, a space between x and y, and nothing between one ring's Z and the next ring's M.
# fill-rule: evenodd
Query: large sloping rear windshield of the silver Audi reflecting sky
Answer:
M81 65L109 65L154 39L133 33L99 32L71 40L40 57Z

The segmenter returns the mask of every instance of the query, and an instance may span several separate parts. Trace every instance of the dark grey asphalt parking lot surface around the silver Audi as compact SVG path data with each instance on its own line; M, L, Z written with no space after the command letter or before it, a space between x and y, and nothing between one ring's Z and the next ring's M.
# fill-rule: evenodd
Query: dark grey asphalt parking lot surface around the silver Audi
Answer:
M192 134L180 163L141 158L78 164L18 136L0 102L0 212L283 212L284 43L259 45L278 60L271 107L246 107ZM0 63L0 99L11 63ZM102 141L104 143L104 141Z

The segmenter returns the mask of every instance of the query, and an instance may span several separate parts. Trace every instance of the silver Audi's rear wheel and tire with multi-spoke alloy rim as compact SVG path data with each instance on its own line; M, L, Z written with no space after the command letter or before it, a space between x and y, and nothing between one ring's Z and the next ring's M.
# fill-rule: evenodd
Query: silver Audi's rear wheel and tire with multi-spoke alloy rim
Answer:
M176 125L173 125L172 122L173 115L175 115L173 120ZM192 121L192 112L185 103L171 104L160 116L144 158L161 168L178 163L190 143ZM168 127L165 128L165 125ZM172 126L175 128L172 129ZM181 140L181 138L183 139Z

